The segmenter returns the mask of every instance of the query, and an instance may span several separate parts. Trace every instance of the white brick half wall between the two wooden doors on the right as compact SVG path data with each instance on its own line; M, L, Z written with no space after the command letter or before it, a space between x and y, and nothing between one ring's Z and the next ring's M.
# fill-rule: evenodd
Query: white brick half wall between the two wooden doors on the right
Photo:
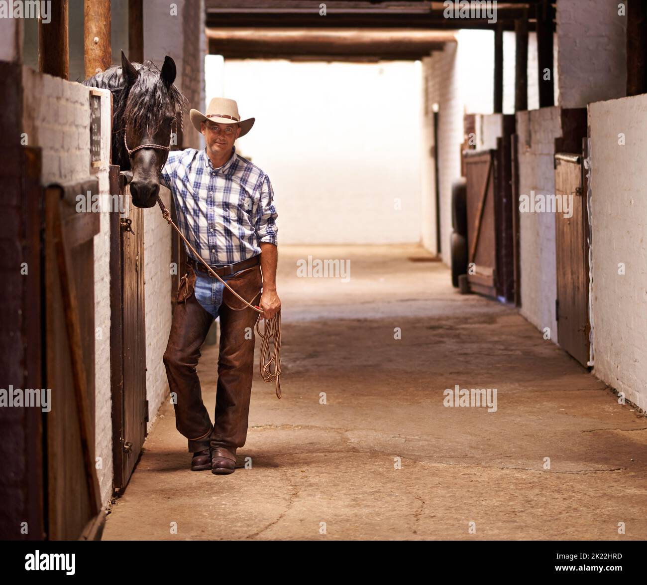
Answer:
M519 137L519 193L554 194L554 139L562 135L560 108L516 114ZM551 328L557 341L555 299L555 216L520 213L521 314L539 329Z

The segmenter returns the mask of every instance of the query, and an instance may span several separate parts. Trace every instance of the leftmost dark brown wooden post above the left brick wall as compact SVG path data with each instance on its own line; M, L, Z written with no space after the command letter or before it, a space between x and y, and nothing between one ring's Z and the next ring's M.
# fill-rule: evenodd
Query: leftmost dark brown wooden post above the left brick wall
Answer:
M67 0L52 0L51 20L38 19L38 69L63 79L69 78Z

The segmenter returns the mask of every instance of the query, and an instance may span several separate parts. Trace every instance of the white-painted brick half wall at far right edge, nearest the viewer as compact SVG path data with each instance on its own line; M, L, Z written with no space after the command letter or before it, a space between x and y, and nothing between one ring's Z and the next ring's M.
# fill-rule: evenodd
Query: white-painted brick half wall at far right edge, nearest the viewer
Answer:
M589 105L595 375L647 409L647 95ZM624 134L624 146L619 144ZM624 263L624 275L619 264Z

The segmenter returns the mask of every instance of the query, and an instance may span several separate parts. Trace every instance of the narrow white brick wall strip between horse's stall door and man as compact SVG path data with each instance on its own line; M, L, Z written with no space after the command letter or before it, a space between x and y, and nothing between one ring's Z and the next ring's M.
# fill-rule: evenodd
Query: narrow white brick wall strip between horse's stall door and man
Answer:
M171 192L162 187L160 195L170 209ZM146 398L151 424L169 391L162 356L171 330L171 226L158 205L144 209L144 260Z

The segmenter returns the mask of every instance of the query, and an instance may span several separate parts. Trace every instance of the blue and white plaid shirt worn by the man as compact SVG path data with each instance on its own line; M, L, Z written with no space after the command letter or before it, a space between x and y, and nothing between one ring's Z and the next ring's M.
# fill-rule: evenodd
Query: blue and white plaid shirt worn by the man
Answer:
M173 193L177 224L210 265L246 260L261 252L260 242L277 244L278 227L270 178L236 154L214 168L206 150L173 150L160 173ZM189 257L195 258L186 247Z

